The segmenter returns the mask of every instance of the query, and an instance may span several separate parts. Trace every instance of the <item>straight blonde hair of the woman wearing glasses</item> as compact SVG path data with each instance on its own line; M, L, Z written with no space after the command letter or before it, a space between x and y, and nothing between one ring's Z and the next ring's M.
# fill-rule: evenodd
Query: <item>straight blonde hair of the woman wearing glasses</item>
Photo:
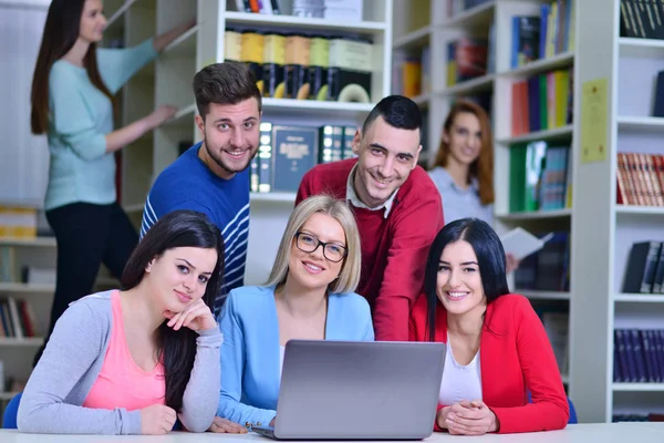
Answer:
M272 271L266 286L279 286L286 282L289 272L288 262L295 234L315 213L326 214L339 222L345 234L346 249L349 251L341 266L339 277L330 284L328 290L341 293L355 291L360 284L360 272L362 269L360 233L355 223L355 216L345 202L324 194L314 195L300 202L291 213L286 230L283 231L283 237L281 237L281 243L279 244L274 266L272 266Z

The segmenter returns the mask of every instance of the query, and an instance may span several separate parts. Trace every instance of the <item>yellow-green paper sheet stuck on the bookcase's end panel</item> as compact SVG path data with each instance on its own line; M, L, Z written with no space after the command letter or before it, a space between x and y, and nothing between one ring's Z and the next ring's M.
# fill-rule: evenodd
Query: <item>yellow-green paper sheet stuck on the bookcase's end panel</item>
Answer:
M581 162L606 158L609 81L591 80L581 91Z

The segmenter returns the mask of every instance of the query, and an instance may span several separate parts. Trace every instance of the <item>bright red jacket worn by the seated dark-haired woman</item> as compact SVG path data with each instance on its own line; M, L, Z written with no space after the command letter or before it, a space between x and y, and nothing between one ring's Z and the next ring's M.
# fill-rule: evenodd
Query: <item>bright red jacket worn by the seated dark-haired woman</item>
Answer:
M411 312L411 341L427 341L426 295ZM436 308L435 341L447 342L447 311ZM480 338L483 401L501 434L563 429L570 411L551 343L523 296L509 293L487 306ZM532 403L528 402L530 389ZM474 399L467 399L474 400ZM444 405L439 404L438 410ZM440 431L435 424L434 430Z

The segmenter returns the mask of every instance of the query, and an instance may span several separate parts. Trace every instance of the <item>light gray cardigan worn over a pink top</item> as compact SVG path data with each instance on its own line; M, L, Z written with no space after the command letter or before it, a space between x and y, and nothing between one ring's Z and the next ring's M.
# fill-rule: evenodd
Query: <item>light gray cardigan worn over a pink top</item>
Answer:
M50 434L139 434L141 411L82 408L104 363L111 339L112 291L73 302L55 323L49 344L32 371L19 406L21 432ZM205 432L217 412L221 369L219 329L200 331L196 359L185 389L181 423Z

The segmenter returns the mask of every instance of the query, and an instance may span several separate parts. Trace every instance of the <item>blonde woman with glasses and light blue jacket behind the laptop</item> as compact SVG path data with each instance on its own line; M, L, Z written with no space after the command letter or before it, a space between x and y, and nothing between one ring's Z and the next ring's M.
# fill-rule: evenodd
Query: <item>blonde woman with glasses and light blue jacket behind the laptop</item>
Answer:
M210 431L273 424L291 339L373 341L360 281L357 225L342 200L317 195L291 214L264 286L230 291L221 311L221 394ZM246 431L242 431L246 432Z

